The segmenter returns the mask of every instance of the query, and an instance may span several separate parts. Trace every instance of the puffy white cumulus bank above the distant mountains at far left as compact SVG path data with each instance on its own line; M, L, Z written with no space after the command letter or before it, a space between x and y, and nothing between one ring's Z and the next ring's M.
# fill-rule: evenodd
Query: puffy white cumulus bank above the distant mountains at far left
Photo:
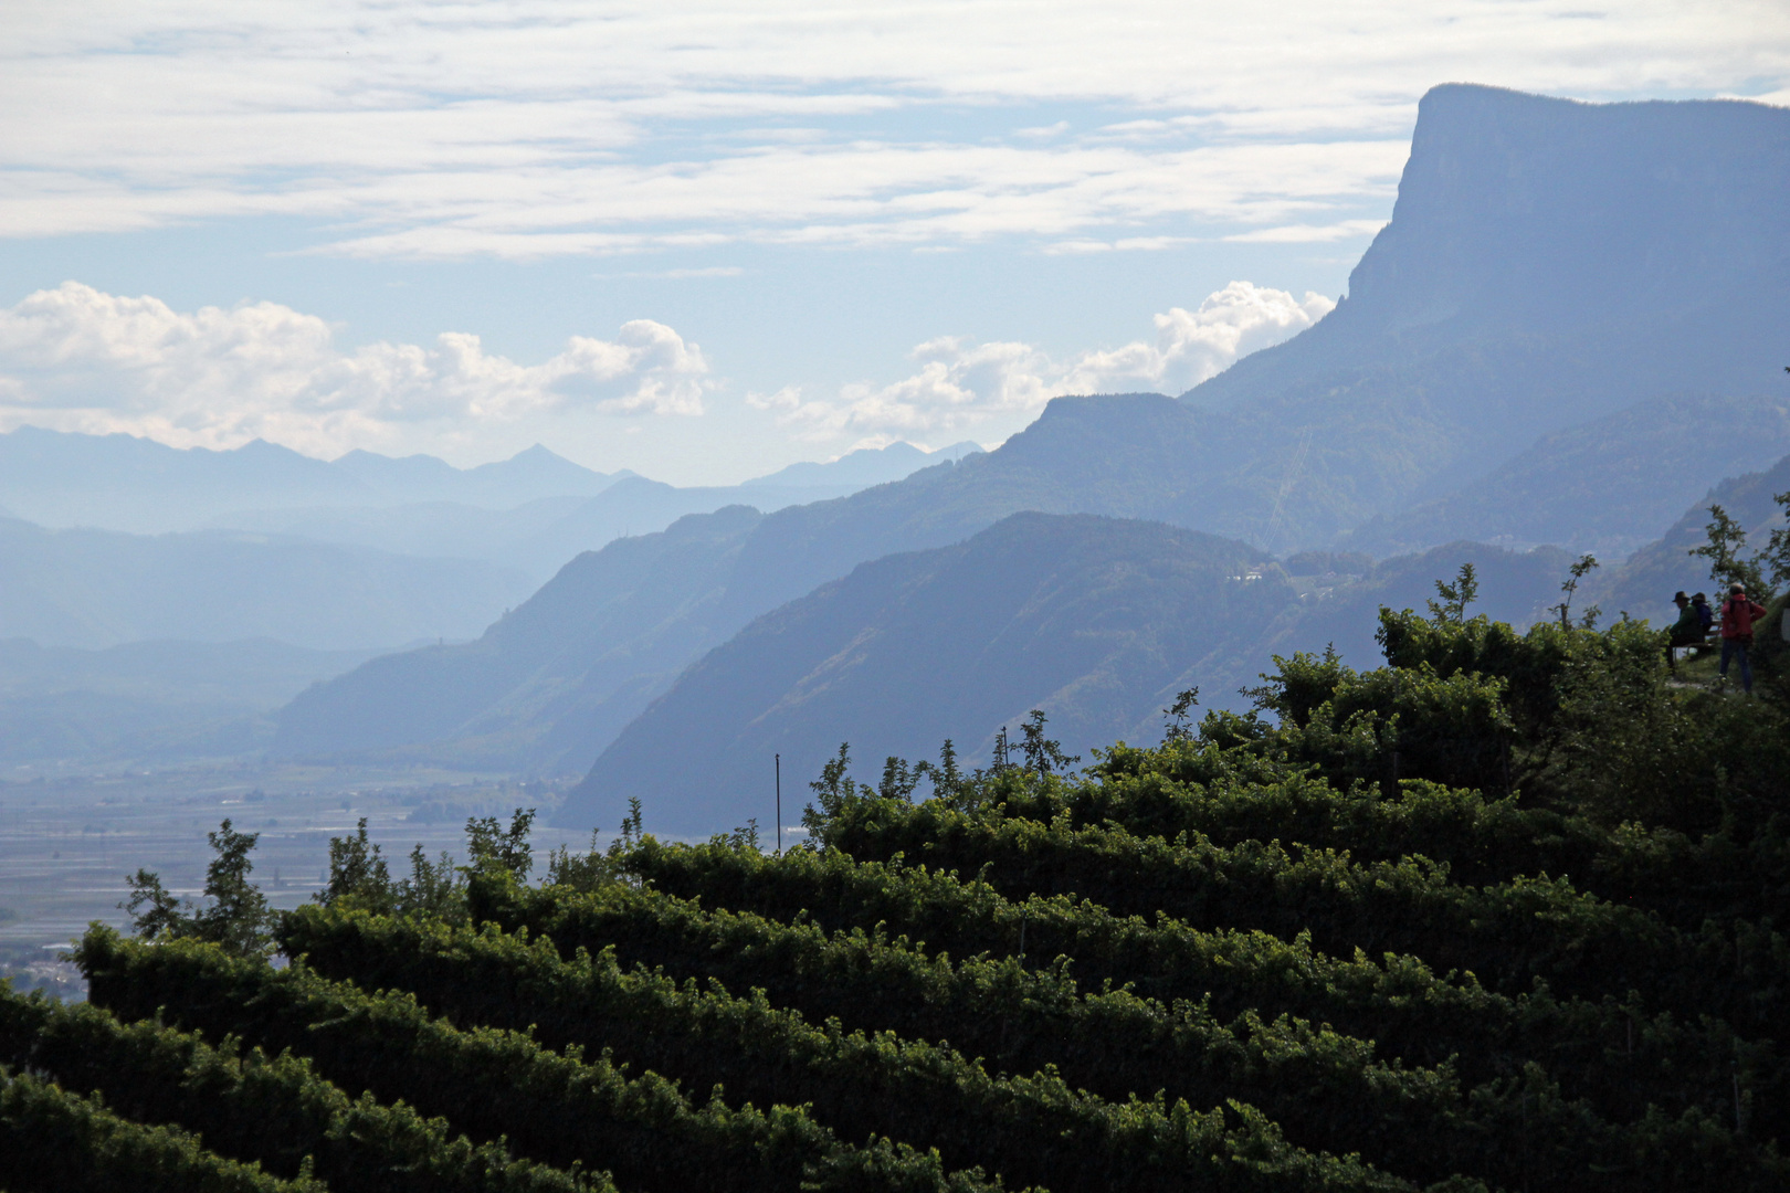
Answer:
M700 415L707 388L702 349L644 318L519 365L465 333L344 351L329 324L276 302L184 313L64 283L0 309L7 429L204 447L261 436L333 454L397 442L417 424L464 435L542 413Z

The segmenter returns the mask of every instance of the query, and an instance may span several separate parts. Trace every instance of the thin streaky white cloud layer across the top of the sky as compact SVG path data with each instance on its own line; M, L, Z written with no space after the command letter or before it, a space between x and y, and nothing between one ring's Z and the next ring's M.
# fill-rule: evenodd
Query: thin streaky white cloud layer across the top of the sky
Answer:
M1781 0L18 4L0 229L360 256L1360 236L1418 97L1790 98Z

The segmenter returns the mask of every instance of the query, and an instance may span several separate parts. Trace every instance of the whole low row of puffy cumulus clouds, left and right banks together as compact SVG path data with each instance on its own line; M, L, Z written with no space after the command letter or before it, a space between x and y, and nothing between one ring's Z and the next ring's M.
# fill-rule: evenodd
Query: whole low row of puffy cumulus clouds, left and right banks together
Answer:
M974 431L1029 419L1061 393L1178 393L1332 306L1235 281L1196 309L1156 315L1151 338L1121 347L1054 360L1031 343L938 336L911 352L915 370L899 381L820 397L786 386L748 393L745 404L811 442ZM467 333L344 349L329 324L274 302L175 311L64 283L0 309L0 431L125 431L177 447L267 438L335 456L476 444L523 420L546 429L591 417L702 415L720 390L700 347L644 318L614 340L573 336L557 356L523 365Z

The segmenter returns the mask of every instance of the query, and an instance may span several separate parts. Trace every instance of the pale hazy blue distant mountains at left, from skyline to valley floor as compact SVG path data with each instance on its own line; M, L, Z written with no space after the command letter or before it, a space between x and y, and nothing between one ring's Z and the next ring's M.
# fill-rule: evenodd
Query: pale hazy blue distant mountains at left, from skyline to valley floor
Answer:
M761 508L832 497L976 451L891 444L737 487L673 488L541 447L462 470L267 444L213 453L0 435L0 488L20 508L102 526L211 522L125 533L0 513L0 755L168 762L265 749L268 714L306 685L419 640L473 639L566 560L630 528L739 497ZM281 501L299 504L243 504Z

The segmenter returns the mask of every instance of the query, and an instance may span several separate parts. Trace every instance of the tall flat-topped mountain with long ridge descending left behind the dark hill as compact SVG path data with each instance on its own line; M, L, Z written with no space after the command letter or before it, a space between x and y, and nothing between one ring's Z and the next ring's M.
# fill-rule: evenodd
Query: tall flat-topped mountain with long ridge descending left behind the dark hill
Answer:
M1598 419L1629 411L1602 456L1615 478L1624 453L1650 442L1645 402L1683 392L1754 401L1767 376L1779 377L1779 363L1765 363L1770 313L1790 309L1790 268L1774 272L1790 259L1790 204L1777 202L1790 111L1611 107L1622 106L1434 89L1391 224L1357 267L1359 284L1314 327L1178 399L1060 397L999 451L764 515L729 540L702 619L687 633L655 626L655 642L682 640L689 665L718 635L859 563L945 547L1020 512L1160 520L1264 551L1332 547L1377 513L1527 467L1523 453L1547 454L1550 435L1597 435ZM1480 145L1484 159L1473 157ZM1711 231L1695 236L1658 220L1699 213ZM1598 222L1607 227L1584 245L1556 250ZM1706 252L1709 236L1720 252ZM1561 322L1545 283L1568 267L1582 274L1561 277L1575 302L1625 290ZM1699 385L1681 385L1686 376ZM1736 461L1761 451L1756 431L1713 436L1693 483L1743 470ZM1566 463L1530 472L1536 501L1570 503L1584 479L1579 458L1557 456ZM1656 528L1636 515L1598 533ZM1459 531L1443 519L1398 546L1441 547ZM605 649L625 658L628 644ZM637 708L666 681L662 669L653 676L634 689Z

